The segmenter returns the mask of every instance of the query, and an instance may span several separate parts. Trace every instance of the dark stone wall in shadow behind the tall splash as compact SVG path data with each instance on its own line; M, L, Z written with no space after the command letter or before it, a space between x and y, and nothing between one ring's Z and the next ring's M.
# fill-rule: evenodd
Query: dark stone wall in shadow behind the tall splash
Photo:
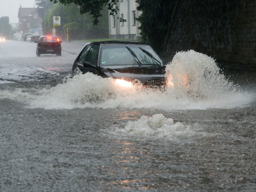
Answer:
M256 1L180 0L167 54L191 49L221 66L256 69Z

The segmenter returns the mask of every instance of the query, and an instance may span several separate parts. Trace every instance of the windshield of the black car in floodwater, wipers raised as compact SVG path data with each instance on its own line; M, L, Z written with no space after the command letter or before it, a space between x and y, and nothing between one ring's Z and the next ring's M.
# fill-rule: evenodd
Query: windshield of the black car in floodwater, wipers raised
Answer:
M164 65L162 59L148 45L105 44L101 46L100 65Z

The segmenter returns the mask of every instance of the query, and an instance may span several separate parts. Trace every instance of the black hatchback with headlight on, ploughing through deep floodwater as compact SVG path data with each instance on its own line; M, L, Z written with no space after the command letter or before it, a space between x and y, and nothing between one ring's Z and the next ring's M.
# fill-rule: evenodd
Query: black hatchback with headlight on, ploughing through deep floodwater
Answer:
M165 64L147 44L128 41L87 43L77 56L72 76L82 71L128 82L140 82L146 87L165 84Z

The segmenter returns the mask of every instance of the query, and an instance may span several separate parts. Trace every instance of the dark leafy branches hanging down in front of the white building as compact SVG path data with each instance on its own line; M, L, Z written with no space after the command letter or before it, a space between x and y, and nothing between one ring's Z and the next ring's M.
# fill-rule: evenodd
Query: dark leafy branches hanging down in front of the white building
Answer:
M110 15L117 14L119 10L117 7L118 0L50 0L54 3L61 3L63 5L76 4L79 6L80 13L90 13L93 18L93 24L97 25L99 23L99 18L102 16L101 11L104 7L108 7L110 10ZM126 21L123 18L119 18L121 21Z

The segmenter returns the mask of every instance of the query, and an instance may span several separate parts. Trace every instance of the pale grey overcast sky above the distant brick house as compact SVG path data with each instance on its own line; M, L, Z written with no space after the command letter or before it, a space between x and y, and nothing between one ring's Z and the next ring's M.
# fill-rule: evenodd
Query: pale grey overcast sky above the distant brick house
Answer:
M33 8L35 6L34 3L35 0L0 0L0 18L8 16L10 23L19 23L20 5L23 8Z

